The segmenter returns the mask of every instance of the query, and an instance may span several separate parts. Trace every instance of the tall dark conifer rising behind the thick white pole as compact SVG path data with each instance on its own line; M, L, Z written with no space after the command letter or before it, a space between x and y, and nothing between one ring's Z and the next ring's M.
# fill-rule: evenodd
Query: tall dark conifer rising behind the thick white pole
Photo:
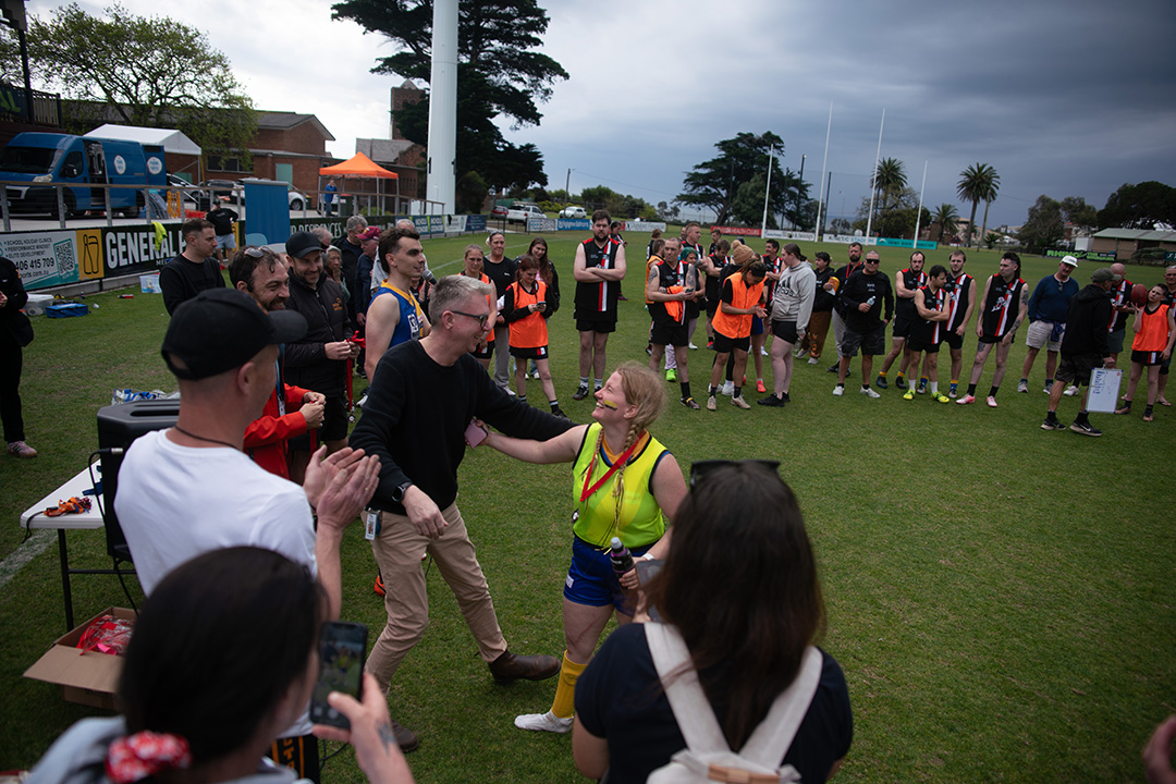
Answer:
M390 40L397 52L376 60L373 73L427 82L432 69L432 0L343 0L334 19L349 19ZM494 123L537 126L536 101L568 73L535 52L548 26L536 0L460 0L457 4L457 170L477 172L492 187L524 190L547 185L543 156L534 145L515 146ZM406 139L428 143L428 101L393 113Z

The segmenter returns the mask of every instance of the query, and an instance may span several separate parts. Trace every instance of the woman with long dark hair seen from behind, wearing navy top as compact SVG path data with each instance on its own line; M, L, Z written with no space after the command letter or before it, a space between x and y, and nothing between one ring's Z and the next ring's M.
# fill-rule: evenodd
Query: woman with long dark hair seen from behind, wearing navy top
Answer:
M816 556L796 496L770 465L691 467L666 561L643 585L664 623L619 628L580 678L572 751L584 776L608 771L609 784L644 782L687 748L666 693L687 678L659 677L647 642L655 636L684 644L688 658L673 671L697 674L736 752L777 696L807 674L815 691L775 762L800 773L782 780L824 782L841 768L854 733L849 689L837 662L815 646L826 622Z

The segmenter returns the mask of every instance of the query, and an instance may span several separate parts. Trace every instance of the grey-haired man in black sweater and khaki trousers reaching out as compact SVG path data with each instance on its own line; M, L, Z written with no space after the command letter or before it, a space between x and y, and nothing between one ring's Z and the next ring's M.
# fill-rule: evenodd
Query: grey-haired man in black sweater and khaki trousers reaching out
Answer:
M425 634L428 598L421 552L433 556L499 683L540 681L560 671L553 656L507 650L486 577L457 510L457 467L467 428L482 420L516 437L547 440L573 425L512 398L470 354L494 328L488 286L461 275L441 279L433 293L433 331L385 354L372 376L363 416L350 444L380 456L380 487L368 512L368 538L385 584L388 623L367 669L387 689L393 674ZM427 444L427 448L425 445ZM405 750L416 735L394 723Z

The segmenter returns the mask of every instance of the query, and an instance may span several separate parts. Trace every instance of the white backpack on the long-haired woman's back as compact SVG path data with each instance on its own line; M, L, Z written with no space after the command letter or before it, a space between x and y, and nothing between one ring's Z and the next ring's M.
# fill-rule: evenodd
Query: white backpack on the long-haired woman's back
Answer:
M801 780L796 769L781 766L780 759L796 737L816 693L821 679L821 651L811 645L806 648L796 679L776 697L768 716L735 753L727 745L697 672L690 666L690 651L677 629L662 623L646 623L644 628L654 666L686 738L686 749L675 753L669 764L650 773L649 784L791 784ZM686 665L684 671L682 665ZM675 671L681 674L669 679Z

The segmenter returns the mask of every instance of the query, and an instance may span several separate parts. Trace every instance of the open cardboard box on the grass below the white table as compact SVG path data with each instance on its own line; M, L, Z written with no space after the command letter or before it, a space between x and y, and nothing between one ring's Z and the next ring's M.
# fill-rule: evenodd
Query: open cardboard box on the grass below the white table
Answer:
M134 610L108 607L56 642L33 666L25 670L26 678L56 683L61 698L71 703L114 710L114 691L119 688L122 657L78 648L78 641L94 621L103 615L134 621Z

